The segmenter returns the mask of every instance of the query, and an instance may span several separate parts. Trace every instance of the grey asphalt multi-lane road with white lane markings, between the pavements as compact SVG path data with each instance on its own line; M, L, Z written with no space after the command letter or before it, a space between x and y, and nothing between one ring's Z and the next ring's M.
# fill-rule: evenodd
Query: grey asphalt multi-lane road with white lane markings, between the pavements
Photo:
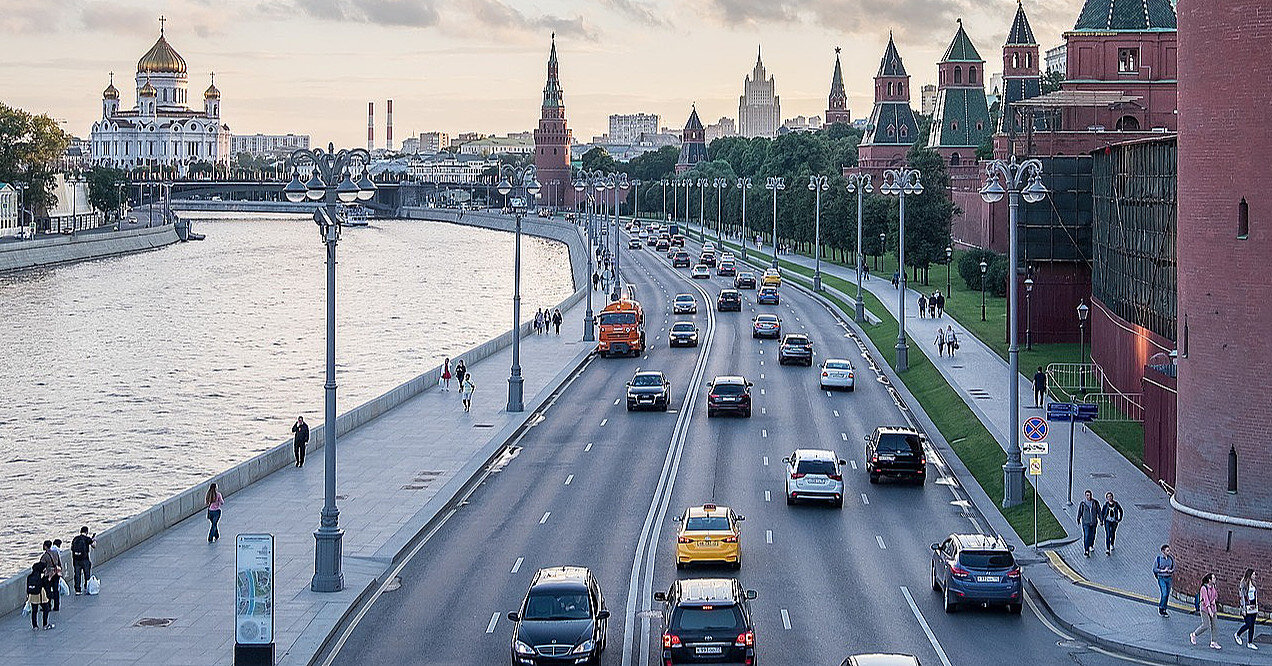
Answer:
M758 592L757 655L767 665L838 665L860 652L906 652L944 666L1124 663L1054 632L1032 604L1019 616L941 610L929 586L930 544L981 531L985 520L932 455L926 487L869 483L864 436L906 421L823 305L787 286L781 305L758 306L756 292L743 291L742 313L715 313L730 278L691 281L661 253L623 252L625 280L647 315L647 356L595 358L576 375L404 564L401 587L338 632L327 663L508 663L513 624L504 615L537 568L560 564L586 566L600 582L613 614L605 665L655 663L653 591L677 576L716 574ZM670 314L681 292L697 295L696 316ZM857 390L819 390L817 364L780 366L777 343L750 336L750 318L762 311L778 314L786 333L808 333L817 361L852 358ZM688 318L703 344L668 348L667 328ZM637 369L668 375L668 413L626 411L623 384ZM752 418L709 419L706 383L736 374L754 383ZM842 510L784 502L781 459L800 446L834 449L854 463ZM672 517L706 501L747 516L740 572L674 567Z

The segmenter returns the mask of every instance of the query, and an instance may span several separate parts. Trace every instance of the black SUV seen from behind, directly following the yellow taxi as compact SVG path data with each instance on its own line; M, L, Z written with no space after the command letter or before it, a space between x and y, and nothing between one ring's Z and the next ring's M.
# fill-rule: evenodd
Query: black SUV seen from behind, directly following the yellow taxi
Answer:
M663 602L660 663L756 663L752 599L736 578L688 578L654 592Z

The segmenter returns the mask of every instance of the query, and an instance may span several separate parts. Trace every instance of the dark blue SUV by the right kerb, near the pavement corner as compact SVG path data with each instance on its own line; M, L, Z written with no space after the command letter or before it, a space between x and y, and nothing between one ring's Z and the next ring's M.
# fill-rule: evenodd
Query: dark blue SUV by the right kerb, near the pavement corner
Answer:
M932 544L932 591L941 592L945 613L992 604L1019 615L1024 602L1011 547L990 534L951 534Z

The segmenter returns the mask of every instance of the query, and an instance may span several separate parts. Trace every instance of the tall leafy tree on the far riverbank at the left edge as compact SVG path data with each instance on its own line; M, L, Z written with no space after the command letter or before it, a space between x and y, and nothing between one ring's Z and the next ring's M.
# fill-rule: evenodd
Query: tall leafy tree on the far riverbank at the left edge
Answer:
M47 114L34 116L0 102L0 182L27 186L25 206L57 205L57 160L69 145L70 136Z

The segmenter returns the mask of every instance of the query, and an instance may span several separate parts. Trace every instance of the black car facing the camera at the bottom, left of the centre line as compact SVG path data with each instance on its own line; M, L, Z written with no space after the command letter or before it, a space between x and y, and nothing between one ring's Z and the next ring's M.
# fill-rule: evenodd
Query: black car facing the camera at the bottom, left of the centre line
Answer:
M586 567L539 569L520 611L510 611L513 665L600 663L609 611Z

